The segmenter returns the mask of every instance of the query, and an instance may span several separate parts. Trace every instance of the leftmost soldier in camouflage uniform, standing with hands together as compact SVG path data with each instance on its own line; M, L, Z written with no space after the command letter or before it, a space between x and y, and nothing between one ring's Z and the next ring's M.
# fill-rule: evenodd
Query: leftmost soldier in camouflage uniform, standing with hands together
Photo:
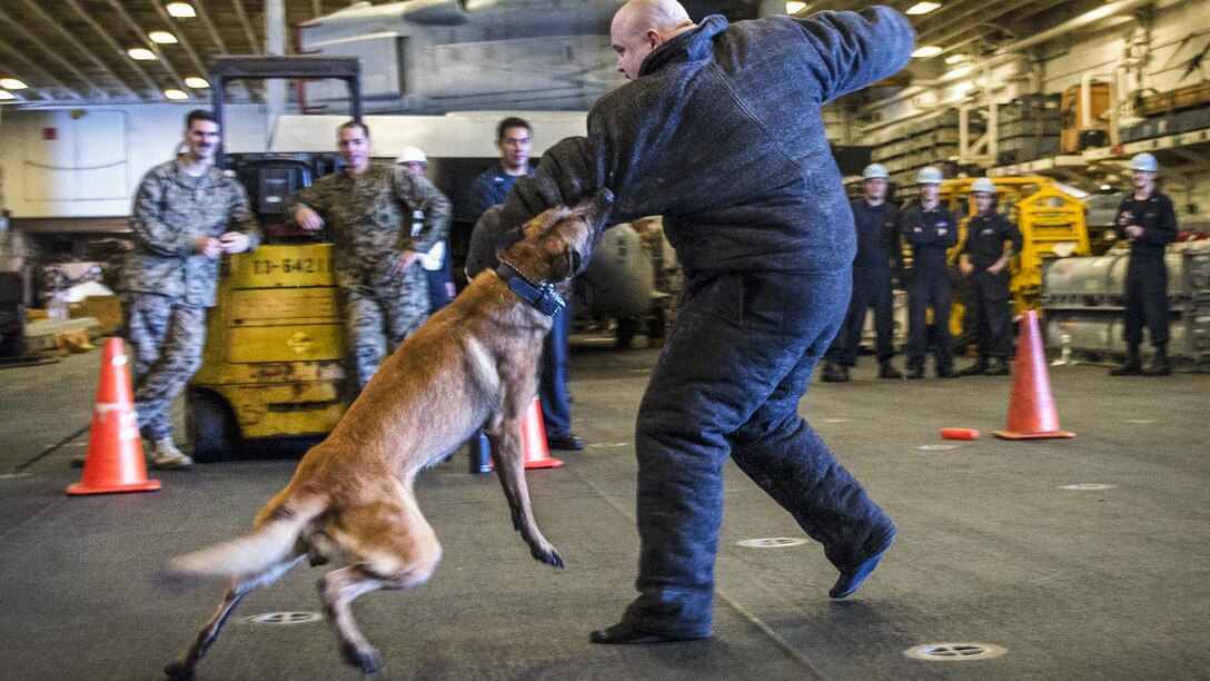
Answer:
M194 463L173 443L168 406L201 365L219 257L260 242L243 185L214 167L214 115L185 116L184 142L185 153L139 183L131 216L134 248L117 287L134 349L134 407L144 435L155 441L151 467L160 469Z

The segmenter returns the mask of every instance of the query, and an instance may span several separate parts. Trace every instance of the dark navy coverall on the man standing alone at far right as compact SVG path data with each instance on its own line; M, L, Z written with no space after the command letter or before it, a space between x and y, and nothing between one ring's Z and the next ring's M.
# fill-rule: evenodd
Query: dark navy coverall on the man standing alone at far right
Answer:
M1122 337L1130 348L1142 343L1142 327L1157 349L1168 348L1168 265L1164 251L1176 241L1176 211L1172 201L1152 191L1146 199L1127 193L1118 206L1117 224L1137 224L1142 236L1130 241L1130 263L1125 281L1125 326Z

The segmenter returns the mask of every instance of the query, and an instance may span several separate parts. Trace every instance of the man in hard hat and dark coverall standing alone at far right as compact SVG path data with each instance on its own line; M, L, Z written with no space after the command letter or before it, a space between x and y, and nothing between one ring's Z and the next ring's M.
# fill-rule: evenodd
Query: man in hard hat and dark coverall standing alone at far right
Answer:
M1134 191L1118 206L1117 224L1130 242L1130 264L1125 282L1127 359L1112 376L1168 376L1168 267L1164 251L1176 240L1176 211L1172 201L1156 190L1159 162L1151 154L1130 160ZM1147 368L1139 357L1142 327L1151 334L1156 354Z

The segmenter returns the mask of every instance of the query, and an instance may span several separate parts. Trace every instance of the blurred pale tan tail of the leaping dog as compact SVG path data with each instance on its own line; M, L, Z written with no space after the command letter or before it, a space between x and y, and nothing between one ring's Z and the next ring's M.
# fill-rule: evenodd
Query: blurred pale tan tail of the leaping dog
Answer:
M295 549L302 528L327 509L327 498L289 499L248 534L177 556L168 562L168 570L182 576L258 574L286 560Z

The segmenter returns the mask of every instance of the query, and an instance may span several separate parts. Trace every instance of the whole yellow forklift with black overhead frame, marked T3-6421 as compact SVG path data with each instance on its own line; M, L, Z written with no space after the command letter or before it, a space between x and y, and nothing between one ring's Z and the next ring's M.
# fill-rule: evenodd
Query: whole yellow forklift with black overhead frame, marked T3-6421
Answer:
M339 79L348 87L352 119L362 120L357 58L219 58L211 86L220 125L225 86L237 79ZM282 212L290 194L335 171L338 156L220 153L218 162L248 189L265 239L221 263L202 365L185 393L198 462L237 458L258 439L324 435L352 397L332 244L316 241Z

